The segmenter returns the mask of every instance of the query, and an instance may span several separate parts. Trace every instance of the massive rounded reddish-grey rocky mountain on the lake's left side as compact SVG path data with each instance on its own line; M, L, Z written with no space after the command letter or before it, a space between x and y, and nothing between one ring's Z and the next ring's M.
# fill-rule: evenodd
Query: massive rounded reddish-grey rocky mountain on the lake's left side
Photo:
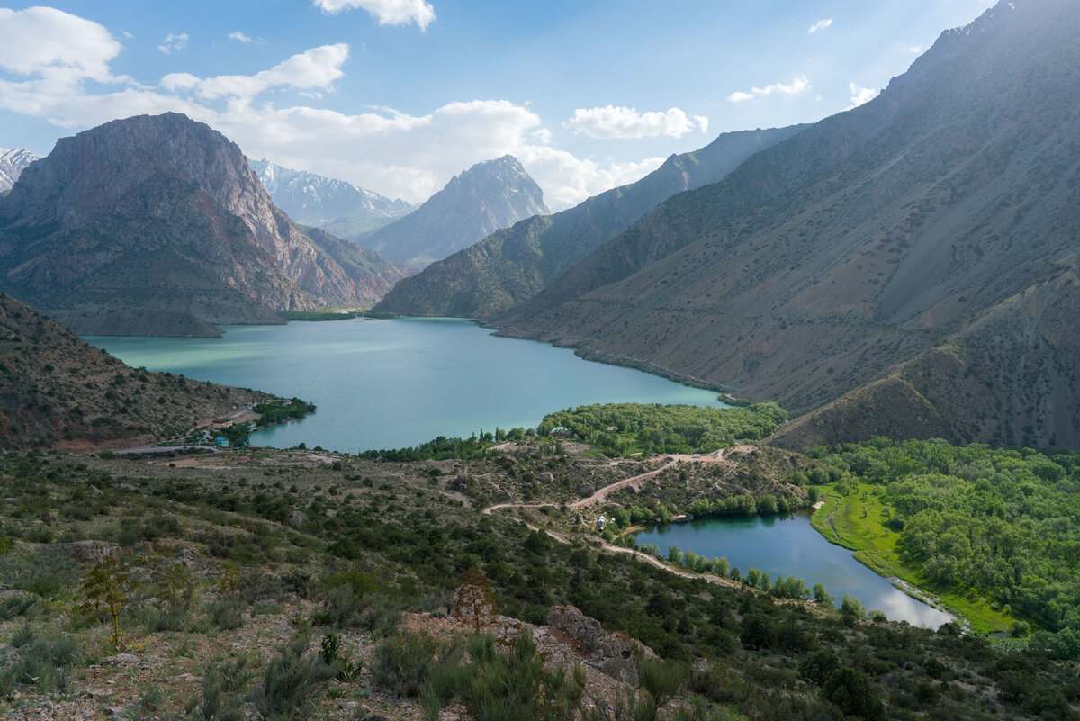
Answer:
M342 266L271 202L240 149L185 115L62 138L0 199L0 284L79 332L204 335L370 302L404 269Z

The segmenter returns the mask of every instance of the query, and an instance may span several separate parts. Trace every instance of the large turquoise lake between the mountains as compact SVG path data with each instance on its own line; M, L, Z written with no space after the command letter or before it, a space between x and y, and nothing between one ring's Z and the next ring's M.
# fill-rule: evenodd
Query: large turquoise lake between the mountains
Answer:
M460 318L354 318L225 326L224 338L92 337L130 366L314 403L318 411L252 436L258 446L355 453L536 427L593 403L723 406L717 394L546 343L492 336Z

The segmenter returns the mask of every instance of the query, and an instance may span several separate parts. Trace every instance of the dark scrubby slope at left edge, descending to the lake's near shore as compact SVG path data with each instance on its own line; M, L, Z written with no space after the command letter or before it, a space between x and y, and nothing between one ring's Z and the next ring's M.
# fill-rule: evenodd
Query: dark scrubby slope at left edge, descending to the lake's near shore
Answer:
M266 394L129 368L0 294L0 446L68 447L187 431Z

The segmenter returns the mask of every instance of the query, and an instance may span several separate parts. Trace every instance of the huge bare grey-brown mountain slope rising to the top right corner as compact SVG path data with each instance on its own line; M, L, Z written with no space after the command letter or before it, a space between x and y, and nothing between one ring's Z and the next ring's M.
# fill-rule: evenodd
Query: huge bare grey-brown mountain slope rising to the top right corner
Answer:
M673 198L497 325L796 412L945 339L978 338L1000 356L995 397L1024 397L1026 326L971 334L1076 269L1078 40L1074 2L1002 2L945 32L875 100ZM1067 366L1053 377L1080 376L1080 349L1059 338ZM1040 427L1065 428L1061 407ZM1020 443L1026 414L1003 410L1000 427L963 434L946 418L949 437Z

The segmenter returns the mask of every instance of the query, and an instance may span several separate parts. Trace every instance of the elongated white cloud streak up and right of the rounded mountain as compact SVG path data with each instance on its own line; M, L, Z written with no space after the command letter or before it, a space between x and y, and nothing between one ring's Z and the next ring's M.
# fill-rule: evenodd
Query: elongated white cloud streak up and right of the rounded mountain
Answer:
M174 93L192 91L205 100L220 97L253 98L275 87L327 90L335 80L345 74L341 66L348 58L349 45L346 43L323 45L294 55L254 76L217 76L202 79L188 72L174 72L161 79L161 86Z

